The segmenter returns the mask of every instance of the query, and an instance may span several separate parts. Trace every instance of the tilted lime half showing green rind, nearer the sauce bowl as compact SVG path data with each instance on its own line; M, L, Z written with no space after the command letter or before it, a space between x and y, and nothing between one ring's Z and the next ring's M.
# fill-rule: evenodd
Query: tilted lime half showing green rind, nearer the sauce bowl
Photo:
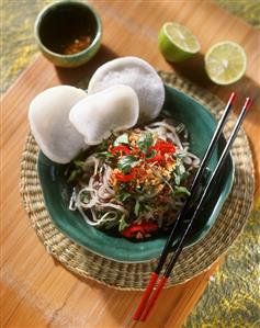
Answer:
M200 43L183 25L165 23L159 32L159 49L165 58L178 63L200 52Z

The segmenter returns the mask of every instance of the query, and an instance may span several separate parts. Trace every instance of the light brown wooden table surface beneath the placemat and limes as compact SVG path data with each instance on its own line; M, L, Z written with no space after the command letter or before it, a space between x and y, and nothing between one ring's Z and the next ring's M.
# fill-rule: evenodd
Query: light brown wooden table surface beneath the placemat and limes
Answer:
M244 124L253 154L256 201L260 172L260 33L208 1L90 1L101 14L104 35L99 54L84 67L57 69L39 56L2 99L1 115L1 327L181 327L202 295L215 263L190 282L162 292L146 324L131 314L139 292L122 292L82 281L55 263L30 226L19 193L20 160L29 132L27 108L41 91L60 83L75 84L102 63L117 56L139 56L156 69L177 72L217 94L230 91L253 99ZM157 35L166 21L185 24L199 37L202 54L171 66L160 55ZM214 43L233 39L248 56L246 76L230 87L217 87L205 76L203 54ZM205 309L206 310L206 309Z

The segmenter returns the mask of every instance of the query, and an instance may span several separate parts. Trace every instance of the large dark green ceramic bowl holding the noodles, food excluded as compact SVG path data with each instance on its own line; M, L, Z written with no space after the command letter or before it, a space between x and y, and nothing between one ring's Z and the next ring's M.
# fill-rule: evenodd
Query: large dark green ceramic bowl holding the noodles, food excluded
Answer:
M163 112L177 121L183 122L189 131L191 150L200 158L203 156L215 131L216 122L212 114L200 103L171 87L166 87ZM211 159L213 169L225 146L224 137ZM167 235L135 242L125 238L113 237L94 227L90 227L77 212L68 210L71 186L64 179L65 165L49 161L42 152L38 157L38 174L48 213L55 225L70 239L102 257L122 262L143 262L157 258L167 240ZM219 211L231 189L234 166L228 156L219 179L208 194L185 247L203 238L214 225ZM178 233L180 238L180 231Z

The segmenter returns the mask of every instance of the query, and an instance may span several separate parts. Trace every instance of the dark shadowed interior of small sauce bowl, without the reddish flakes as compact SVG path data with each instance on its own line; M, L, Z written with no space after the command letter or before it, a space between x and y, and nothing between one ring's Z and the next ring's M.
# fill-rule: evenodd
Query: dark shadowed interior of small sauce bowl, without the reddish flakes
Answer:
M87 4L64 1L47 7L42 12L37 33L42 44L49 50L64 54L64 49L76 39L88 37L91 44L99 32L99 23Z

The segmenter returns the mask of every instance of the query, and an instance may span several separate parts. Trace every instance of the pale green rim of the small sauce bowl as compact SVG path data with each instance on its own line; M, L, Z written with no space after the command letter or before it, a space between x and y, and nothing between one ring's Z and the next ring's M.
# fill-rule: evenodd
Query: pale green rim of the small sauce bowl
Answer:
M44 43L42 42L41 37L39 37L39 25L42 20L44 19L44 16L47 14L47 12L49 11L50 8L57 8L60 5L66 5L66 4L72 4L72 5L80 5L84 9L88 9L91 14L93 15L95 22L97 22L97 26L98 26L98 32L93 38L93 41L91 42L91 44L84 48L83 50L76 53L76 54L71 54L71 55L63 55L59 53L55 53L53 50L50 50L49 48L47 48ZM49 3L48 5L46 5L36 16L35 23L34 23L34 36L35 39L38 44L38 46L48 55L54 56L56 58L59 59L70 59L70 58L80 58L82 55L87 55L89 52L91 52L101 41L102 38L102 34L103 34L103 25L102 25L102 21L100 15L98 14L98 12L88 3L86 2L81 2L81 1L77 1L77 0L61 0L58 2L54 2L54 3Z

